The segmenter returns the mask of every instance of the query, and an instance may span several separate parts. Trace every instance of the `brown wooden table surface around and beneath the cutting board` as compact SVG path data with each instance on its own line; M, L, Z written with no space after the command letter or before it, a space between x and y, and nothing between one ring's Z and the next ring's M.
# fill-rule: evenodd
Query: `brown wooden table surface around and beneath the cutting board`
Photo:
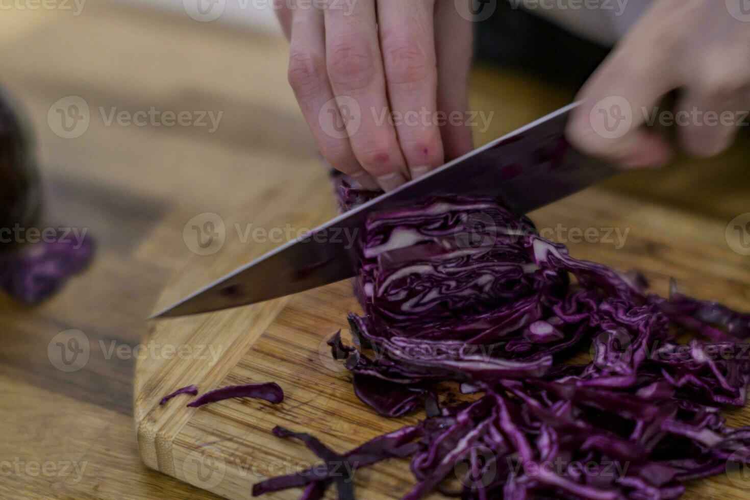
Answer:
M3 10L0 47L0 84L37 135L46 223L85 227L98 242L91 268L52 300L26 307L0 298L0 498L215 498L140 462L133 367L148 355L138 349L144 318L192 255L182 237L187 221L204 212L236 214L248 199L272 196L321 168L286 82L286 44L268 33L100 1L79 16ZM478 142L573 94L478 68L472 106L496 112ZM82 97L91 112L88 130L75 139L56 135L47 121L50 106L69 96ZM223 115L214 133L107 124L113 108L151 107ZM598 189L726 226L750 211L747 139L713 160L681 159ZM748 301L750 291L740 290L733 305ZM69 373L55 367L48 346L71 329L83 332L91 350L86 366Z

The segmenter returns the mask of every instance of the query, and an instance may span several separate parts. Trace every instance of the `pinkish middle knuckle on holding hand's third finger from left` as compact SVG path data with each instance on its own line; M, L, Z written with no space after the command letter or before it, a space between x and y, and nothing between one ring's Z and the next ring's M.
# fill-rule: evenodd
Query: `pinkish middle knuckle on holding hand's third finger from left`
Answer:
M414 37L385 37L383 64L389 83L422 88L436 71L428 53Z

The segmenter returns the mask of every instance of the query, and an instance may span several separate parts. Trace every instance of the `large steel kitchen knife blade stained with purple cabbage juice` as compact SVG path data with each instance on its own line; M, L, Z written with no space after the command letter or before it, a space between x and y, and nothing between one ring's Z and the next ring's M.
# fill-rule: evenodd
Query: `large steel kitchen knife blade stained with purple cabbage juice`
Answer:
M576 106L578 103L572 103L558 109L341 214L151 317L254 304L353 277L356 248L341 235L362 235L365 220L373 211L409 205L425 196L455 194L498 197L508 208L526 214L603 181L617 169L565 141L565 124Z

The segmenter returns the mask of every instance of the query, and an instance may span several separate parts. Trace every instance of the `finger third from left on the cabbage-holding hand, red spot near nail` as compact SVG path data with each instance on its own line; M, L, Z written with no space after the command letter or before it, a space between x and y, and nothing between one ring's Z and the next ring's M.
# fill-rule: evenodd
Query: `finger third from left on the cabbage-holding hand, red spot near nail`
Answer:
M443 165L435 123L434 0L377 0L380 50L396 133L411 178Z

